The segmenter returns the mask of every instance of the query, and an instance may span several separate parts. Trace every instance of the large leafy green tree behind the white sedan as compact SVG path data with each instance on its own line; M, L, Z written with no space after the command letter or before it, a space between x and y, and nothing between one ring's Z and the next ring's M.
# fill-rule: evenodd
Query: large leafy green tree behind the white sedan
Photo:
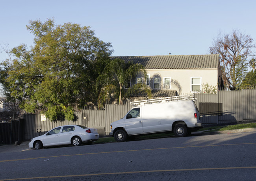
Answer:
M74 120L73 108L93 99L91 68L111 54L111 44L95 37L90 27L55 25L52 19L31 20L27 29L35 45L11 50L16 59L1 64L1 83L27 112L40 110L53 121Z

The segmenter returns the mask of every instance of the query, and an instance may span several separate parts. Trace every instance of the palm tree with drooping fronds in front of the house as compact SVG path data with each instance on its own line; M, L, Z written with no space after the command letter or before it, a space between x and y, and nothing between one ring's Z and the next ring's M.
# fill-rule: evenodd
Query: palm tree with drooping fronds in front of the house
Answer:
M118 104L122 104L125 98L136 93L147 93L148 97L151 97L151 90L143 82L128 86L128 82L138 73L142 73L146 80L147 71L143 65L124 62L122 59L110 61L104 73L98 77L99 84L105 85L102 89L102 99L106 99L107 95L113 94L115 99L118 100Z

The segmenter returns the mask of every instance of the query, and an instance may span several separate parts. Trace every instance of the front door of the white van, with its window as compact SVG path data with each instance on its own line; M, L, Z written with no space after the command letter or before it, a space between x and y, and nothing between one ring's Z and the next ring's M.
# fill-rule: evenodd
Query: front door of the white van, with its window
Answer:
M128 135L143 133L143 127L141 122L141 108L133 108L126 114L125 127Z

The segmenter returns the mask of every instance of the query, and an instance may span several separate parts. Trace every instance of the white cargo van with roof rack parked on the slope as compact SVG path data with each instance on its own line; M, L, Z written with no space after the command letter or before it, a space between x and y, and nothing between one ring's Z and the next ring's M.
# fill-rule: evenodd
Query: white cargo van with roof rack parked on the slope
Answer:
M117 142L126 141L132 135L158 132L171 131L177 137L186 136L202 128L196 100L190 95L130 102L136 107L122 119L111 123L109 135Z

